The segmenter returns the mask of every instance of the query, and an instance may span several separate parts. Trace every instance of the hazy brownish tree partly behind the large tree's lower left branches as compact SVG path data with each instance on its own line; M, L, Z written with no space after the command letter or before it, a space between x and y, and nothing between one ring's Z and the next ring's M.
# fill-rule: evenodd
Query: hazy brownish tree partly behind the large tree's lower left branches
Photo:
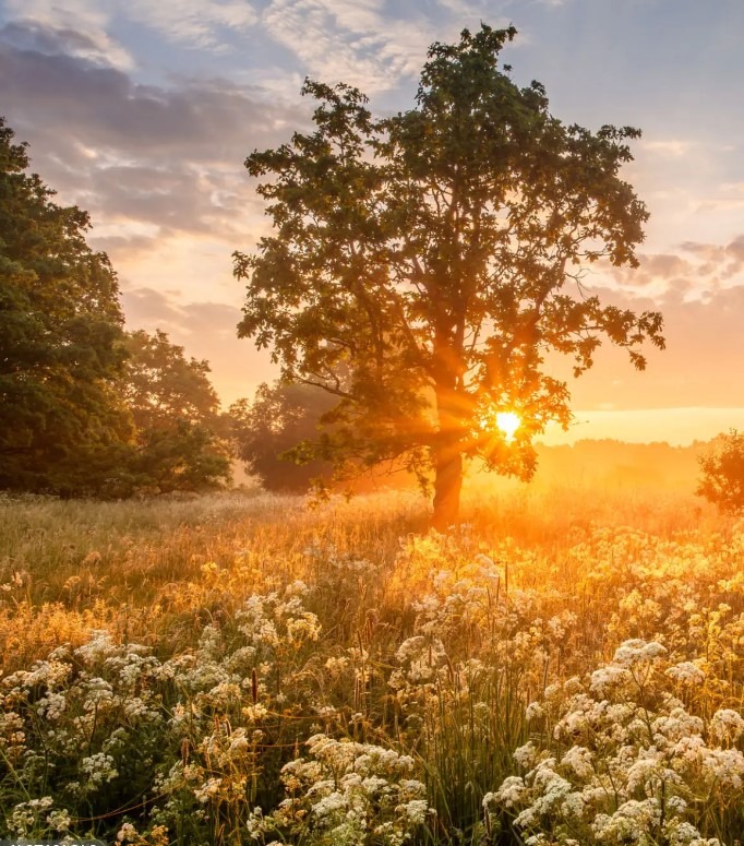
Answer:
M335 404L335 397L312 385L264 382L252 403L231 405L233 439L245 469L276 491L303 492L313 479L327 479L331 464L312 454L303 462L300 444L319 437L321 418Z

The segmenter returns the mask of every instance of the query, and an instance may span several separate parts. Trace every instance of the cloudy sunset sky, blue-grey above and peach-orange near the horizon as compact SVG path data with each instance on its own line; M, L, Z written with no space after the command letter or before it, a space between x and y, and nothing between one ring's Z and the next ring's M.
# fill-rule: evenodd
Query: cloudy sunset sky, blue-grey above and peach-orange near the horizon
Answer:
M640 267L586 283L660 310L668 346L640 373L602 348L548 441L744 428L742 0L0 0L0 115L89 212L128 327L207 359L228 405L277 374L236 332L231 253L269 228L245 157L309 129L305 76L412 107L428 46L481 21L516 26L503 61L555 117L643 130L622 174L651 214Z

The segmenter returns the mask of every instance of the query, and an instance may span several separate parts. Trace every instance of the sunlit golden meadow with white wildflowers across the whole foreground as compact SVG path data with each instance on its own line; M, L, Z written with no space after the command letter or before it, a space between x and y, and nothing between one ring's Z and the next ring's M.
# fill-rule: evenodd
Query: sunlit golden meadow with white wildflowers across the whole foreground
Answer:
M744 523L692 496L0 501L0 837L737 846Z

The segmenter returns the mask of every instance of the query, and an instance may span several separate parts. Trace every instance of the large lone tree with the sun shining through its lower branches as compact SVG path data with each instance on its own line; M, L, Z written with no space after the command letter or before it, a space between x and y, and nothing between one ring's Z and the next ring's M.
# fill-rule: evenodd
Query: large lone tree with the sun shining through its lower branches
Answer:
M648 215L619 171L639 132L554 118L540 83L499 69L515 34L434 44L416 107L389 118L357 88L307 81L315 130L245 163L274 231L233 257L240 336L272 347L285 380L337 397L337 462L429 463L439 528L457 516L464 455L527 478L532 438L567 426L548 354L578 376L602 338L638 369L644 342L663 347L660 314L580 285L588 263L637 265ZM513 442L494 426L503 410L521 418Z

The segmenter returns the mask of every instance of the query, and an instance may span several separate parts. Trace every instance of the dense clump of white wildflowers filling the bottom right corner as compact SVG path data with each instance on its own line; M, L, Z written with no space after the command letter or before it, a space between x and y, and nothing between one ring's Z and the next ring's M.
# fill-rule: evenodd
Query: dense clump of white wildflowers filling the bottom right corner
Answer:
M585 681L550 686L514 753L523 775L483 799L491 827L506 818L529 846L721 846L742 819L744 718L685 708L670 680L695 683L689 666L635 639Z

